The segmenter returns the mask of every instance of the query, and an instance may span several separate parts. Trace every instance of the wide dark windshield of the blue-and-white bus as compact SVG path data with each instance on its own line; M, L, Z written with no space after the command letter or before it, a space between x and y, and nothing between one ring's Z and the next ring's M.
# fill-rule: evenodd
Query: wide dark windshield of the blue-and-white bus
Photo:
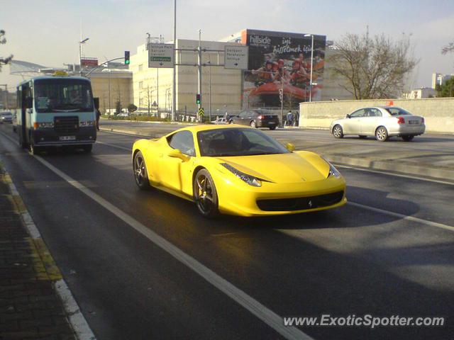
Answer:
M82 79L36 79L35 109L45 112L93 111L89 81Z

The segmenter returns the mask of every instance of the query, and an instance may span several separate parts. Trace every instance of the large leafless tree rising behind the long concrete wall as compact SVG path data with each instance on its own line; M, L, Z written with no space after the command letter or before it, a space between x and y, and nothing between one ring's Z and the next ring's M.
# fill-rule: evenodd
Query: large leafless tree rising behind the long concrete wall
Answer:
M393 41L384 35L369 38L349 33L336 41L334 49L328 62L333 73L345 80L339 86L356 99L398 96L418 63L406 36Z

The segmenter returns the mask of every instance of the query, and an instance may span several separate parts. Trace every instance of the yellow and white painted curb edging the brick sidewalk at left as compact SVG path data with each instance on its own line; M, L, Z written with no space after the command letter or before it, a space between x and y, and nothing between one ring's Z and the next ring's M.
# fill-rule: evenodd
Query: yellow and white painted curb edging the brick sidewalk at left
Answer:
M31 247L36 251L36 254L38 254L41 260L40 263L37 264L37 266L39 266L39 268L37 268L38 272L40 272L40 276L38 276L37 279L52 281L53 288L62 301L66 317L68 319L68 322L70 323L70 326L74 330L77 339L96 340L92 329L90 329L87 320L80 311L79 305L77 305L76 300L74 300L74 296L72 295L70 288L68 288L65 280L62 277L62 274L60 273L60 270L55 264L55 261L52 258L48 247L45 245L45 242L42 239L41 234L35 225L35 222L33 222L33 219L28 212L25 203L23 203L21 195L18 193L17 188L11 179L11 176L9 176L6 169L4 169L4 166L1 165L2 164L0 162L0 168L3 168L3 174L0 174L0 181L8 184L13 205L15 206L18 214L21 215L23 225L26 227L26 230L30 235L29 242L31 244Z

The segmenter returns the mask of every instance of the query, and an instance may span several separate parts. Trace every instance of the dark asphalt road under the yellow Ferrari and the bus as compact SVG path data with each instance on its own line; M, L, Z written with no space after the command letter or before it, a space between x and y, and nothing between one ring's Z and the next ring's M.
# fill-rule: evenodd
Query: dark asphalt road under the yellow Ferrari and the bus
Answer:
M431 138L399 147L444 150L447 141ZM130 152L137 137L100 132L92 154L42 157L15 139L11 125L0 126L2 162L97 339L282 338L282 325L256 317L151 233L280 317L448 318L444 327L299 328L314 339L454 334L449 183L341 168L350 202L343 208L213 221L185 200L138 191Z

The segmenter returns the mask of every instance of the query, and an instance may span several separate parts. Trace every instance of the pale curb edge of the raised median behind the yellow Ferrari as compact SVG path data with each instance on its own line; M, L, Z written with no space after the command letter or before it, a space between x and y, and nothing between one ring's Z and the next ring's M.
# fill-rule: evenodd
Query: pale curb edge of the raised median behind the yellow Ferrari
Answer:
M101 130L106 132L116 132L123 133L126 135L133 135L137 137L155 137L151 134L149 135L140 135L133 130L121 130L115 128L101 128ZM321 130L321 129L317 129ZM433 179L454 179L454 169L443 169L440 167L428 167L428 166L417 166L408 163L397 163L393 161L375 161L373 159L358 158L358 157L348 157L348 156L339 156L336 154L324 154L333 163L351 165L351 166L360 166L362 168L374 169L374 170L384 170L384 171L394 171L400 172L402 174L411 174L416 176L427 176L432 177Z

